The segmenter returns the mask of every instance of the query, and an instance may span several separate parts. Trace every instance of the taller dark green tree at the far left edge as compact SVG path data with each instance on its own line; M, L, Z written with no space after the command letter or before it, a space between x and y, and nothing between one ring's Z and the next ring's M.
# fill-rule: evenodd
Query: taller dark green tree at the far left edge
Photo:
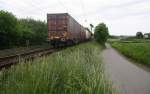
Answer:
M13 46L18 43L21 33L18 32L17 18L10 12L0 11L0 45Z

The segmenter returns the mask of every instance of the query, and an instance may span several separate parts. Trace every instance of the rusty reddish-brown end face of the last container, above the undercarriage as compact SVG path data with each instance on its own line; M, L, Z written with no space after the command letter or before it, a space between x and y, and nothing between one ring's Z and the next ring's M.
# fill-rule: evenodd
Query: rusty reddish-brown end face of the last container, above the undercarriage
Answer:
M59 40L65 38L67 32L66 14L47 14L48 39Z

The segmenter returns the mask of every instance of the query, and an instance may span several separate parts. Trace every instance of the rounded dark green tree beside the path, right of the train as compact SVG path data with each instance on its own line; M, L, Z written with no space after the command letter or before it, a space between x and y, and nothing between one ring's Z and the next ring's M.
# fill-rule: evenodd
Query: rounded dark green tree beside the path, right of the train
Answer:
M104 44L109 36L108 27L104 23L100 23L95 27L94 38L97 42Z

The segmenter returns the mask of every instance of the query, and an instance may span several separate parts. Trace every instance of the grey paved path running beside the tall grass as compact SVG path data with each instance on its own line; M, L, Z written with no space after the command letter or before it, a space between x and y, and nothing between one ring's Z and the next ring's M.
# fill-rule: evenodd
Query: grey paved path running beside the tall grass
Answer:
M109 44L102 52L106 74L119 94L150 94L150 72L136 66Z

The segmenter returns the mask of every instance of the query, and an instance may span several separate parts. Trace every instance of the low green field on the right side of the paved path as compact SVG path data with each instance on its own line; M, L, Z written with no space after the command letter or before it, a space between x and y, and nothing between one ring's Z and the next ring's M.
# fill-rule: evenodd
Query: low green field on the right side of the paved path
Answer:
M150 42L113 42L112 46L125 56L150 65Z

